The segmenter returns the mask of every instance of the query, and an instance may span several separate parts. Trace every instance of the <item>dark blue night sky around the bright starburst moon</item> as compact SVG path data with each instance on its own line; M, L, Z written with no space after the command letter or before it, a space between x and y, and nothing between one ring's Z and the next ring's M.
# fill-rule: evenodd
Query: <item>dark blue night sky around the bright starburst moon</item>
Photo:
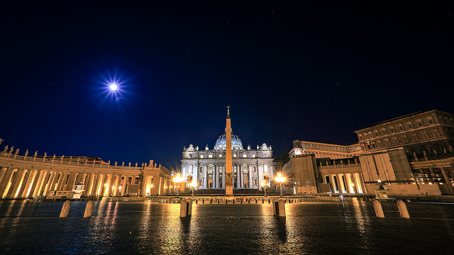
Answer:
M1 1L0 147L178 170L227 105L243 147L275 157L454 113L450 1L244 2Z

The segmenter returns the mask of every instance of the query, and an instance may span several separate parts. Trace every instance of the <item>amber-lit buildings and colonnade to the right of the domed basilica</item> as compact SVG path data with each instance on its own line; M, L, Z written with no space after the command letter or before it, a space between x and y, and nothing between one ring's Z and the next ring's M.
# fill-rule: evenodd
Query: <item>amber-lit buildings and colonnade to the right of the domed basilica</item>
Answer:
M355 145L295 140L279 159L287 192L454 195L453 114L412 113L356 133Z

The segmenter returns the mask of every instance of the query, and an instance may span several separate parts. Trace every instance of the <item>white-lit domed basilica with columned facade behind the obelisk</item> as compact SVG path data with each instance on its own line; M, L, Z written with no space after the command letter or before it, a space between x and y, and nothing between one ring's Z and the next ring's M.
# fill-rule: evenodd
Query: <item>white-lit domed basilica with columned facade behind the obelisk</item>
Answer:
M243 149L240 138L232 132L233 188L260 188L260 182L270 181L274 177L274 159L272 148L265 143L252 149L250 145ZM189 145L182 154L182 176L185 187L193 180L199 189L225 189L226 176L226 132L223 133L214 149L199 149Z

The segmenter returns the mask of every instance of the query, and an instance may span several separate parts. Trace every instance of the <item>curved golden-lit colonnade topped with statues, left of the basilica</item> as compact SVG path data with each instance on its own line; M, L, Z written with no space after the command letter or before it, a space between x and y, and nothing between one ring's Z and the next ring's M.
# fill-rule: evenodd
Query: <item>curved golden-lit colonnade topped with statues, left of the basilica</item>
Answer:
M110 163L110 162L109 162ZM157 164L114 165L96 157L28 157L10 149L0 152L1 198L52 198L83 185L82 197L164 195L170 187L172 172ZM77 187L78 186L78 187Z

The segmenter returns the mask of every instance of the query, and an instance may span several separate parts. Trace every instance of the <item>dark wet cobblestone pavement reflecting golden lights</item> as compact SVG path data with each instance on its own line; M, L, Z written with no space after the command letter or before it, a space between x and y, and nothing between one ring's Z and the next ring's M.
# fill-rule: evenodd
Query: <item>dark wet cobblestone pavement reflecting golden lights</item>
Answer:
M311 201L286 205L194 204L180 218L178 204L0 201L0 254L433 254L451 252L454 204L382 202L377 218L370 201Z

